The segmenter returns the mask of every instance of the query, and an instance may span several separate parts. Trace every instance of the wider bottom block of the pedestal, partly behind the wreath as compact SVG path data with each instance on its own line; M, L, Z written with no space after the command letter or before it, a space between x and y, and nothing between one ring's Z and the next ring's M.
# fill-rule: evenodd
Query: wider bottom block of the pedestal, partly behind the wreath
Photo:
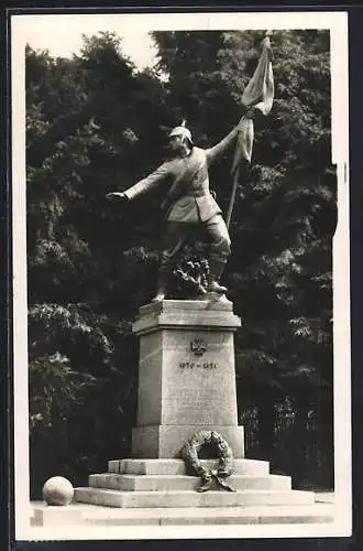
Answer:
M178 458L183 445L198 431L217 431L230 444L234 457L244 457L243 426L216 424L138 426L132 431L133 457Z

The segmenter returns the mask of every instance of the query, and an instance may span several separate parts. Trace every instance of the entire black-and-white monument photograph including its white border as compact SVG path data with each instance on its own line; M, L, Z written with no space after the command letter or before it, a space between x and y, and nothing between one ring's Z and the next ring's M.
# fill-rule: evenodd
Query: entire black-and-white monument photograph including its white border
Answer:
M11 17L16 540L352 533L348 14Z

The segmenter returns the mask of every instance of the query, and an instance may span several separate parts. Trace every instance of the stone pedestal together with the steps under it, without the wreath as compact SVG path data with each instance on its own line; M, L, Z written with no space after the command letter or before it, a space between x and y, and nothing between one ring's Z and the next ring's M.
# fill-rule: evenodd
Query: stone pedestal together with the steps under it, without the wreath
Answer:
M135 511L161 508L160 518L179 508L229 507L231 512L246 506L314 505L311 491L293 490L290 477L271 474L268 462L244 457L233 344L240 325L226 298L163 301L140 309L133 326L140 337L140 371L132 458L112 460L107 473L90 475L89 487L75 489L75 501ZM201 430L218 432L232 449L234 473L227 480L235 491L218 484L197 491L201 479L187 471L180 452ZM218 458L200 456L200 463L216 468ZM286 515L294 522L293 511ZM207 517L218 522L219 516ZM147 518L154 519L145 514L143 522ZM318 521L317 515L309 512L309 518Z

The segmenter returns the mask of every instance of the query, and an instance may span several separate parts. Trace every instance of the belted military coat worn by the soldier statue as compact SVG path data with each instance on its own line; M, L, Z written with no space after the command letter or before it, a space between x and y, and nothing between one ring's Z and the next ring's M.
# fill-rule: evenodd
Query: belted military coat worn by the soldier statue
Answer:
M125 195L132 199L167 179L170 186L162 204L166 220L209 220L216 214L221 214L221 209L209 190L208 169L234 142L237 136L238 127L212 148L194 147L188 155L164 162L152 174L129 187Z

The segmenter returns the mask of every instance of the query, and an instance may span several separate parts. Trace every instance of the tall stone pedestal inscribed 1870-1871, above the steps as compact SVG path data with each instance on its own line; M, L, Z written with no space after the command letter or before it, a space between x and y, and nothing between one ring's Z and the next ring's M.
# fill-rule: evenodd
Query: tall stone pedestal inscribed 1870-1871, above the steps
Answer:
M139 403L132 456L179 457L186 440L215 430L244 456L238 425L232 303L163 301L140 309Z

